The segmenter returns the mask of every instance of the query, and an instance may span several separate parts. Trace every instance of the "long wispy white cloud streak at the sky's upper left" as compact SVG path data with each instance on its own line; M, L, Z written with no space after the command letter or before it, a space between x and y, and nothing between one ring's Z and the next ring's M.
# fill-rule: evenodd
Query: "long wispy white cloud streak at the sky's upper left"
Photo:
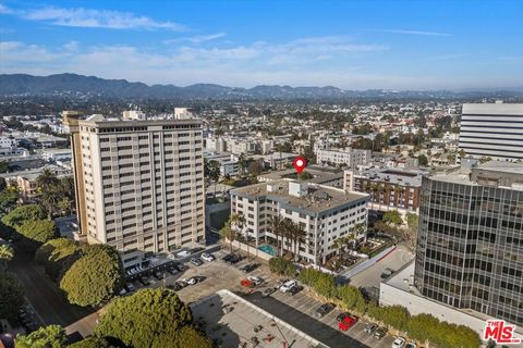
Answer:
M111 28L111 29L167 29L174 32L185 30L185 26L173 22L158 22L147 16L135 15L130 12L44 8L33 9L20 13L26 20L41 21L53 25Z

